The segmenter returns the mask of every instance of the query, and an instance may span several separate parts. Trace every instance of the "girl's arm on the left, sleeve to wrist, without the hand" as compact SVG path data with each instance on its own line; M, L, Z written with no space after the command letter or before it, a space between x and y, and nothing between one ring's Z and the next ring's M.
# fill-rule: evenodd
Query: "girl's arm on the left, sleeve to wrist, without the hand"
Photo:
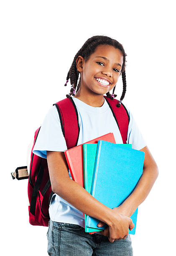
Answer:
M46 151L46 156L52 191L81 212L111 225L114 219L112 209L96 200L86 189L70 179L64 152Z

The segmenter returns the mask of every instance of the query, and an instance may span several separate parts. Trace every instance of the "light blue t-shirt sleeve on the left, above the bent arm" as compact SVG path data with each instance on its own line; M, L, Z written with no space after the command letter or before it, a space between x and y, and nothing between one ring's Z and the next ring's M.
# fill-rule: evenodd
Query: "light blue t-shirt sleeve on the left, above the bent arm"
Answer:
M46 158L46 151L66 151L66 141L61 129L61 122L56 106L52 106L46 114L36 143L33 154Z

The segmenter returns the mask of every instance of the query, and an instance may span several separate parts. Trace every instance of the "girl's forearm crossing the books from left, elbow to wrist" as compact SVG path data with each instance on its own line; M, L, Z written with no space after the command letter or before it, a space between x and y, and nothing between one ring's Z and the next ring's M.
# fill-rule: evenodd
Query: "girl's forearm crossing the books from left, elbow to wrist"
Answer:
M107 225L112 224L114 215L112 209L95 199L77 182L67 178L57 187L58 189L54 192L75 208L89 216L102 220Z

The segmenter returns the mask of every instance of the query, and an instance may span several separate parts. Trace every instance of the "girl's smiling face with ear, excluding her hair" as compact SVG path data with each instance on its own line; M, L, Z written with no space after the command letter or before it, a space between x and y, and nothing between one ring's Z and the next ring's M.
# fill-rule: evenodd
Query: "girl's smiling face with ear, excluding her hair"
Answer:
M123 54L113 46L99 45L87 62L82 56L78 56L76 63L81 74L81 91L104 95L113 89L121 75ZM105 81L98 82L97 78L105 79L109 84Z

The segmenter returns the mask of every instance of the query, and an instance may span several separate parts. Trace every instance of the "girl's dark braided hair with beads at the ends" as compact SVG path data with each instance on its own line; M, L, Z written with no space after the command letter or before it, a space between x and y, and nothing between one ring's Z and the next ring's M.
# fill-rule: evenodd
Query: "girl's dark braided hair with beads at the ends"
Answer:
M121 101L125 97L125 92L126 92L126 75L125 75L125 66L126 66L125 61L126 60L125 60L125 57L127 56L127 54L125 54L122 44L120 44L118 41L116 41L115 39L112 39L108 36L92 36L91 38L87 39L87 41L83 44L82 48L79 49L77 54L74 56L74 60L71 64L71 67L70 67L69 72L66 77L66 83L64 84L66 86L69 79L70 79L70 83L72 84L70 93L67 94L66 97L70 98L71 95L74 96L76 88L78 91L79 87L81 85L81 77L78 82L79 71L77 70L77 67L76 67L77 57L79 55L81 55L85 59L85 61L87 61L89 59L89 56L92 53L94 53L96 47L99 46L100 44L114 46L116 49L119 49L123 54L123 64L122 64L122 70L121 70L122 82L123 82L123 92L122 92L122 96L120 97L120 102L116 105L119 108L121 106ZM78 82L78 86L77 86L77 82ZM77 91L76 91L76 93L77 93ZM106 93L107 97L110 98L111 100L113 100L114 97L117 97L117 95L114 94L114 92L115 92L115 87L113 88L112 94L110 94L110 92Z

